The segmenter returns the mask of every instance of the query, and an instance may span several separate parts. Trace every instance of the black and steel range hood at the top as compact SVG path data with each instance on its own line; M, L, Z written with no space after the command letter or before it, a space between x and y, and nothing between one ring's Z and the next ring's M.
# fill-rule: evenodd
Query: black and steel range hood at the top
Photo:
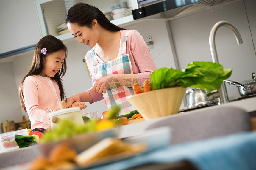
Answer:
M148 1L148 0L146 0ZM151 0L154 1L154 0ZM143 4L143 7L132 10L133 19L141 19L155 14L163 14L165 18L175 18L189 15L202 10L212 10L213 7L219 7L222 4L241 0L165 0L154 1L149 4Z

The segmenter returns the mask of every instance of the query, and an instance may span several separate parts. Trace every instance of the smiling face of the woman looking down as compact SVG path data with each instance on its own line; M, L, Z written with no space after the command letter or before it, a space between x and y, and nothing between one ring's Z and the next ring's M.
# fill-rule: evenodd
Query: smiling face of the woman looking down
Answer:
M98 42L95 26L88 28L87 26L78 26L76 23L68 23L67 26L68 30L77 38L79 43L84 43L92 48Z

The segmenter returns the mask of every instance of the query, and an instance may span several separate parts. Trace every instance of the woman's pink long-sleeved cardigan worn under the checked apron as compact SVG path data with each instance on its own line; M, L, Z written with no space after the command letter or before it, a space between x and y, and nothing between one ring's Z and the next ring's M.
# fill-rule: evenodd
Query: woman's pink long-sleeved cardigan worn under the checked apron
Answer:
M122 42L125 32L126 30L120 31ZM87 52L85 60L92 77L92 84L94 85L96 83L96 75L94 73L94 66L90 53L91 50ZM133 74L138 79L140 85L143 85L143 80L145 78L149 78L151 73L156 70L157 67L149 51L149 47L146 45L146 42L142 38L141 34L136 30L132 30L127 36L126 53L129 54ZM93 86L87 90L87 92L92 96L93 102L103 99L102 93L94 93Z

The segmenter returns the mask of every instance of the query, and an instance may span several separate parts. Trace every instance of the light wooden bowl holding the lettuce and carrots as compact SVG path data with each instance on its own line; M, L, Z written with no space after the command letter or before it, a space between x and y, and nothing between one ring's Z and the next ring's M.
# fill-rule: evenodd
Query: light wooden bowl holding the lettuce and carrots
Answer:
M164 117L179 112L186 88L181 86L152 90L127 97L145 120Z

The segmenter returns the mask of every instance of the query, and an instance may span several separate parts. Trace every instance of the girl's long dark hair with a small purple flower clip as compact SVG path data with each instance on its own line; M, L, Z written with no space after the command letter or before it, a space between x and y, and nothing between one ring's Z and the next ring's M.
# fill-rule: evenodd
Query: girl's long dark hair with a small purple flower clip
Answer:
M47 50L46 55L41 53L41 50L43 48L46 48L46 50ZM47 35L47 36L44 36L42 39L40 39L39 42L37 43L37 45L35 47L34 56L33 56L33 60L32 60L32 64L30 66L30 69L29 69L28 73L26 74L26 76L24 77L24 79L21 81L21 84L19 86L19 96L20 96L20 100L21 100L21 109L24 109L25 112L27 110L26 110L26 107L25 107L24 95L23 95L23 92L22 92L24 80L26 79L26 77L28 77L30 75L41 74L43 72L43 63L44 63L43 61L44 61L44 59L49 54L52 54L52 53L57 52L59 50L65 51L66 55L65 55L65 58L64 58L62 68L60 69L59 72L57 72L54 75L54 77L51 77L51 79L53 81L55 81L59 86L61 100L64 100L66 98L61 78L64 76L64 74L67 71L66 58L67 58L67 51L68 50L67 50L67 47L63 44L63 42L60 39L57 39L56 37L54 37L52 35Z

